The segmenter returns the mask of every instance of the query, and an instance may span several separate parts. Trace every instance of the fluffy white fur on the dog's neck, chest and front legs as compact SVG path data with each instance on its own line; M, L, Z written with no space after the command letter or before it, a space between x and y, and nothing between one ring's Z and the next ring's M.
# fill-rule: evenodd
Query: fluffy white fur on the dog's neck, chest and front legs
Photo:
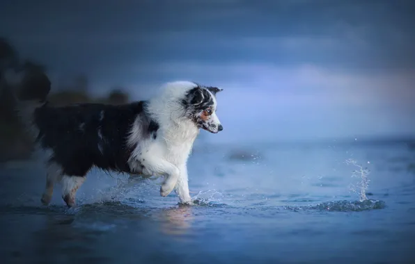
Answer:
M132 154L134 158L129 160L132 170L139 170L138 166L142 164L146 167L143 174L166 176L160 190L161 195L169 195L174 189L182 203L191 202L187 159L199 129L194 122L181 115L183 106L180 105L180 98L184 98L186 92L196 86L187 81L167 83L162 87L160 95L150 100L148 112L159 124L157 139L137 145ZM136 119L133 124L128 140L130 143L137 142L135 139L139 136L139 122Z

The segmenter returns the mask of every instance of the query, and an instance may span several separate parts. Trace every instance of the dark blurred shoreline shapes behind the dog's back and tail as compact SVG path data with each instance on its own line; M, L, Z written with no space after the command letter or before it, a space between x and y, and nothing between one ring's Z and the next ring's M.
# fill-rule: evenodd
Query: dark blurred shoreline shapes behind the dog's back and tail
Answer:
M32 60L20 60L19 54L5 38L0 38L0 83L6 69L26 72L23 83L15 90L19 99L47 100L54 106L80 103L126 104L129 96L123 88L114 88L107 97L95 98L88 92L88 76L79 74L72 85L54 87L47 76L46 67ZM50 91L50 94L47 95ZM33 143L23 129L15 113L15 101L11 91L0 87L0 163L31 157Z

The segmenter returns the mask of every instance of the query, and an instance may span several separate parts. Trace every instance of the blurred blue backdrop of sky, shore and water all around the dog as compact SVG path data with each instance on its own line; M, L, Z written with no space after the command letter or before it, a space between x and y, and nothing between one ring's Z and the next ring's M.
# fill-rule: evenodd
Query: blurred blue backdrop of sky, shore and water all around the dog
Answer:
M99 170L68 211L0 90L6 263L415 263L415 2L3 0L0 77L51 104L224 89L189 158L195 206ZM145 242L143 242L145 241ZM141 262L140 262L141 261Z

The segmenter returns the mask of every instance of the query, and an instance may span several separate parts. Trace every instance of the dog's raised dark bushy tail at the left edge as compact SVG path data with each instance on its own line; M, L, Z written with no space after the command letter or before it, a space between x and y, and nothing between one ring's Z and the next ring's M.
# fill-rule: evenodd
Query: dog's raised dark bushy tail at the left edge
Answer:
M12 100L11 104L33 139L38 136L35 112L46 104L51 83L43 72L8 69L0 76L0 94Z

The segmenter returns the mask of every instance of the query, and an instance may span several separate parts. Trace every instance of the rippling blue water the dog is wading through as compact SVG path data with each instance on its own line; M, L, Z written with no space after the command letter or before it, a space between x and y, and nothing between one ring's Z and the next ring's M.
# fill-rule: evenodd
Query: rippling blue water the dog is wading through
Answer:
M195 206L159 181L94 171L67 209L45 170L3 165L2 263L415 263L415 149L196 147ZM412 261L411 261L412 260Z

